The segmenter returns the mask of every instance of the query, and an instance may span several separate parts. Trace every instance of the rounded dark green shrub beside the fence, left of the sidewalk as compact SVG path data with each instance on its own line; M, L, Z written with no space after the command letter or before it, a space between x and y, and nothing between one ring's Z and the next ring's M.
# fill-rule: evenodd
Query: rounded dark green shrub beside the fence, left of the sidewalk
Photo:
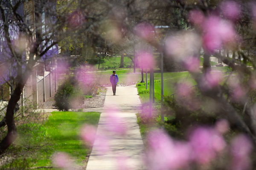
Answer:
M58 91L54 96L54 106L58 108L59 111L68 111L70 108L78 108L84 102L82 94L78 81L71 76L58 87Z

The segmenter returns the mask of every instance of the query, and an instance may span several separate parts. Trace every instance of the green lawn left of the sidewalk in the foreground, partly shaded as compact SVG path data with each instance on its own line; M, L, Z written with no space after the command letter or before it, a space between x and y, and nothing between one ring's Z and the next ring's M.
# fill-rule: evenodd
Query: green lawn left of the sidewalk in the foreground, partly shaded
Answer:
M76 164L84 165L91 148L85 147L81 141L80 129L84 124L97 126L99 116L97 112L52 112L45 123L19 125L17 132L20 137L7 150L9 156L16 157L0 170L10 167L49 169L53 166L55 152L65 152Z

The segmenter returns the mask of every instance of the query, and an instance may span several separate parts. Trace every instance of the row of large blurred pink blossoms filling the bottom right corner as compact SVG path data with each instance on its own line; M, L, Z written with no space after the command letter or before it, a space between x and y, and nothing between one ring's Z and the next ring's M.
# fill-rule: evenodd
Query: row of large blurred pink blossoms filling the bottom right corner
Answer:
M146 164L152 170L188 169L192 164L206 165L229 149L222 134L229 129L227 120L221 119L215 127L196 127L187 142L172 139L163 130L152 130L148 135L150 149ZM232 170L247 170L252 142L245 135L236 136L230 145Z

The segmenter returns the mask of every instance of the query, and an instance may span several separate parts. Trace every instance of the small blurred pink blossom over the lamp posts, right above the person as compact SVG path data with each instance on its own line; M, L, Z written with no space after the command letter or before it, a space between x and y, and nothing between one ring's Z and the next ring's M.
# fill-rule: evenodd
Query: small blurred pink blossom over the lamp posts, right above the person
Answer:
M154 58L152 54L147 52L140 52L137 54L140 67L151 68L154 66Z

